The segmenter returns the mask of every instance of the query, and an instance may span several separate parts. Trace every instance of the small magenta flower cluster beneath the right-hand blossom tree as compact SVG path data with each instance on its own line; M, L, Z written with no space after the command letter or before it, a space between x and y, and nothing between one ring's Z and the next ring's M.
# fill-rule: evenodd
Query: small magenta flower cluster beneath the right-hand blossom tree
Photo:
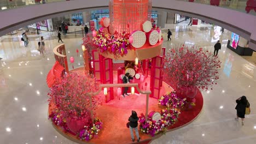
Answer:
M181 109L187 103L186 98L179 98L175 91L167 92L167 94L162 95L158 100L158 104L161 106L171 106L172 108Z

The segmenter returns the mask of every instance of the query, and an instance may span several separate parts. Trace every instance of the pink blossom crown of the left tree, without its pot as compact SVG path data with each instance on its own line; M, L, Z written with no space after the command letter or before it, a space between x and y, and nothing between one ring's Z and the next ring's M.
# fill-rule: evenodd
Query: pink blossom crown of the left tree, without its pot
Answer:
M86 118L90 117L89 111L96 110L101 104L100 95L92 95L96 91L98 84L93 76L71 73L50 89L48 101L56 106L63 118Z

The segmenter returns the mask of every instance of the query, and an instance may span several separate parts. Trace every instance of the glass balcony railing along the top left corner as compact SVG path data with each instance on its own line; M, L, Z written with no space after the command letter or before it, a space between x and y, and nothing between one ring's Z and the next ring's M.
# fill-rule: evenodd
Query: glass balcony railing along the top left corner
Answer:
M0 0L0 11L26 7L28 5L46 4L74 0Z

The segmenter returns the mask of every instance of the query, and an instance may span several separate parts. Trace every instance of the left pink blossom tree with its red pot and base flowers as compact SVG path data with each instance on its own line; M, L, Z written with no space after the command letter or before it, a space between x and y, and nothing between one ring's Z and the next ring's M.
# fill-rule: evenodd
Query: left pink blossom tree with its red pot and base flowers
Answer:
M95 117L95 113L94 115L91 113L101 104L100 95L92 96L92 93L97 90L98 85L95 78L89 74L71 73L66 75L56 82L56 85L51 87L48 93L49 105L53 107L49 118L53 123L61 126L64 131L78 135L81 131L87 130L86 135L90 132L89 138L90 135L92 137L96 133L92 133L91 130L99 131L102 125L100 119ZM91 130L89 131L89 129ZM88 140L84 134L80 138Z

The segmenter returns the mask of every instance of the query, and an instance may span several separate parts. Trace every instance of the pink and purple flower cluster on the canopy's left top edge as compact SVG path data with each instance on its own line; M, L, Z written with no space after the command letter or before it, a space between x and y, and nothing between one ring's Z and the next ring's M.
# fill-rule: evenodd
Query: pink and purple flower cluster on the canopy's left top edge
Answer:
M92 39L95 46L100 52L112 53L115 58L123 57L127 54L129 44L129 34L123 32L122 34L115 33L114 36L104 32L98 32L96 37Z

